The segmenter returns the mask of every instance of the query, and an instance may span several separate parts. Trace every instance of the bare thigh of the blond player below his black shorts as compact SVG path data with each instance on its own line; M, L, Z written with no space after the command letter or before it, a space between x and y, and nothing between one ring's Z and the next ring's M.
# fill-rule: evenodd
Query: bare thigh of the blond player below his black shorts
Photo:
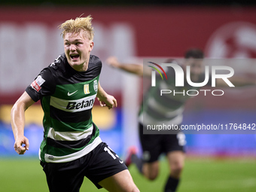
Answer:
M126 169L111 177L99 181L99 184L111 192L137 192L139 189L133 182L130 172Z

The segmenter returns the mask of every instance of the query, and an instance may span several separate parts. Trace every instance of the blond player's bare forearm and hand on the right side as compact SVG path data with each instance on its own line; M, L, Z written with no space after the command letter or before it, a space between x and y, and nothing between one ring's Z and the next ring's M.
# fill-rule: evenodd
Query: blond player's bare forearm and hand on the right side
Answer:
M114 96L108 95L100 84L98 84L98 93L96 97L99 100L99 105L102 107L108 107L108 109L117 107L117 99L115 99Z

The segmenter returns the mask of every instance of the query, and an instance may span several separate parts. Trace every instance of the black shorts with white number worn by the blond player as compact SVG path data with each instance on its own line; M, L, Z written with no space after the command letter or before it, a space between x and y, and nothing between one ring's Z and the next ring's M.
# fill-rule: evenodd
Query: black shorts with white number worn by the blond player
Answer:
M84 176L98 188L105 178L127 169L126 165L104 142L78 160L67 163L44 163L41 166L46 174L50 192L78 192Z

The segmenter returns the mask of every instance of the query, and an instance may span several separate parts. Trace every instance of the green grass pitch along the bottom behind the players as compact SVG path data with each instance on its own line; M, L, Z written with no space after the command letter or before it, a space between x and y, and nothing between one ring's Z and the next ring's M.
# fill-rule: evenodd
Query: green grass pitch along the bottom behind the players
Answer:
M155 181L143 178L135 166L130 167L130 172L140 191L161 192L168 169L166 161L163 160L160 176ZM255 170L255 160L192 160L188 158L178 192L256 191ZM0 172L0 186L3 192L48 191L44 172L36 159L2 158L0 159ZM81 187L81 192L83 191L106 190L97 190L87 178L84 178L84 184Z

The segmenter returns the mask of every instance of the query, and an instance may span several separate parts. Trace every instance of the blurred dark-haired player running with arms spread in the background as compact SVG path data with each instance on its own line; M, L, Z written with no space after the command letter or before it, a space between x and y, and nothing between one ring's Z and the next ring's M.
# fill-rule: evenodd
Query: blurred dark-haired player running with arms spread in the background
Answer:
M190 66L190 80L194 83L203 82L205 79L202 50L190 49L184 54L184 63L178 63L175 59L168 59L166 63L175 63L181 66L186 71L186 66ZM132 63L120 63L114 56L108 57L108 64L114 68L121 69L125 72L130 72L139 76L151 77L151 68L143 68L143 65ZM163 191L173 192L177 189L181 178L181 172L184 168L184 146L186 144L184 133L175 134L143 134L143 126L148 124L161 125L163 123L169 125L181 126L183 118L184 105L187 99L191 96L174 96L172 94L163 94L159 97L160 87L166 90L197 90L198 87L191 87L187 82L184 87L175 87L175 72L171 69L165 69L168 81L157 81L155 87L149 87L145 93L144 102L139 110L139 139L142 145L143 155L139 158L136 155L136 150L130 148L126 165L135 163L139 171L146 178L154 180L159 172L159 157L160 154L166 154L169 163L169 176ZM160 78L160 75L158 75ZM211 85L211 78L207 85ZM255 84L251 81L236 82L236 85ZM227 84L220 78L216 79L217 86L227 87Z

